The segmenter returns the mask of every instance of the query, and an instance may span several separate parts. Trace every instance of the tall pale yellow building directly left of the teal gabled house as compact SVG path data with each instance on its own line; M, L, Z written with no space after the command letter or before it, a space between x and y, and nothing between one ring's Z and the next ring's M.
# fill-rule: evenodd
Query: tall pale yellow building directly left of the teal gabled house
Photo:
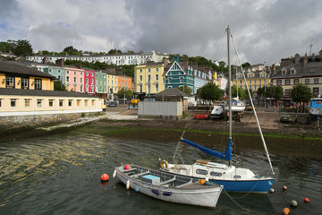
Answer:
M148 62L134 67L134 92L156 94L165 90L165 62Z

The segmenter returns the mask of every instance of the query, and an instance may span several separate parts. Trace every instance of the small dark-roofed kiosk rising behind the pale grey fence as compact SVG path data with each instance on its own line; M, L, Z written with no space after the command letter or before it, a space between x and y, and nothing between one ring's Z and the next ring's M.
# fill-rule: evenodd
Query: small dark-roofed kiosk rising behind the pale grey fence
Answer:
M189 95L176 88L168 88L156 94L156 101L181 101L182 110L188 110Z

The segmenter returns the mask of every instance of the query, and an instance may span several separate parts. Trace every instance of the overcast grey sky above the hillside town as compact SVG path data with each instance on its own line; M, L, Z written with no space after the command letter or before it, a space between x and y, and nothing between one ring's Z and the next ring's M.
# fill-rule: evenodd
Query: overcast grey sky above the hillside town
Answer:
M321 10L320 0L0 0L0 41L226 61L229 25L242 63L271 65L309 55L311 43L312 53L322 49Z

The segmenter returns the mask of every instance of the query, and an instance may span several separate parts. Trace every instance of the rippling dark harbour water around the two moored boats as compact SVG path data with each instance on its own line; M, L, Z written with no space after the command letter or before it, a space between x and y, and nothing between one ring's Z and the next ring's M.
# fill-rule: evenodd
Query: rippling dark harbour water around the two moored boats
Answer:
M114 167L122 163L158 168L158 158L172 156L176 143L84 133L0 142L0 214L281 214L292 200L299 203L292 214L321 214L320 159L271 153L275 193L222 193L215 210L158 201L112 179ZM178 154L186 163L209 159L187 145ZM247 167L267 168L263 151L249 150L240 157ZM107 185L100 182L103 173L111 178ZM309 203L303 202L305 197Z

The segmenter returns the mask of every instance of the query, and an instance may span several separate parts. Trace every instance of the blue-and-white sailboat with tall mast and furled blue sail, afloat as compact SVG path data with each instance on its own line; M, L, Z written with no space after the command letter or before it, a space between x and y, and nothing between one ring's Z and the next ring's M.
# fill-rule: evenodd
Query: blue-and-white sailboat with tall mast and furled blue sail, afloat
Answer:
M231 64L230 64L230 38L231 32L229 26L227 27L227 46L228 46L228 72L229 72L229 80L232 80L232 72L231 72ZM232 37L233 38L233 37ZM178 164L168 163L165 159L160 161L161 170L174 173L176 175L182 176L193 176L197 178L205 178L206 181L216 183L219 185L224 185L224 189L227 192L241 192L241 193L267 193L271 186L273 185L275 178L271 176L260 176L255 174L249 168L237 168L232 165L232 125L233 125L233 118L232 118L232 86L231 82L229 82L229 139L228 144L226 147L225 152L219 152L216 150L211 150L206 147L203 147L195 142L191 142L183 138L184 132L182 133L181 140L193 147L198 148L199 150L211 155L217 159L224 159L228 161L227 164L225 163L217 163L217 162L210 162L208 160L197 160L196 163L187 165L187 164ZM250 90L248 90L250 94ZM251 106L254 107L252 100L250 99ZM261 134L261 139L263 142L264 149L266 150L267 159L270 165L270 169L272 174L275 175L271 160L269 158L269 154L267 151L267 146L263 137L263 133L261 132L258 117L254 110L254 116L258 123L258 130ZM174 152L174 160L175 154L178 150L180 141L178 142L177 148ZM269 173L269 172L268 172Z

